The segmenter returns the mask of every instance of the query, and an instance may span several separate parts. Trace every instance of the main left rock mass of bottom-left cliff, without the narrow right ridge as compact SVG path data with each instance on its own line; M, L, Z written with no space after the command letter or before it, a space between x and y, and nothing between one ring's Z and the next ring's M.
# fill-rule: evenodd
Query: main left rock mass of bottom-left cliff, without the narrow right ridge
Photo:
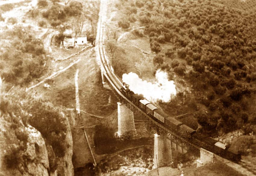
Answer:
M49 175L45 141L34 127L21 121L13 124L10 116L2 116L0 139L0 175Z

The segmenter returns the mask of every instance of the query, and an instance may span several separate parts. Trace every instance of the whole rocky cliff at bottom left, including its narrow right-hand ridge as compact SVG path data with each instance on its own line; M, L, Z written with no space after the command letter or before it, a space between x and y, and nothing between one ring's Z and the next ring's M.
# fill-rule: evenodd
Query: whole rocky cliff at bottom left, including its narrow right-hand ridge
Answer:
M63 157L55 156L39 131L24 126L20 118L4 114L0 117L0 176L73 176L73 140L67 117L66 146Z

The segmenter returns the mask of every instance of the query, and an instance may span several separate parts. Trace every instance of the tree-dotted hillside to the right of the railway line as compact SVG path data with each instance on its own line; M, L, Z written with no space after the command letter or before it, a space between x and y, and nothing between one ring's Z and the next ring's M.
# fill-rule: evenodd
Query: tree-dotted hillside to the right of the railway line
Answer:
M192 128L215 137L255 134L256 16L224 2L116 1L109 57L119 77L133 71L154 82L158 69L167 72L178 93L156 104L173 117L192 114L181 119Z

